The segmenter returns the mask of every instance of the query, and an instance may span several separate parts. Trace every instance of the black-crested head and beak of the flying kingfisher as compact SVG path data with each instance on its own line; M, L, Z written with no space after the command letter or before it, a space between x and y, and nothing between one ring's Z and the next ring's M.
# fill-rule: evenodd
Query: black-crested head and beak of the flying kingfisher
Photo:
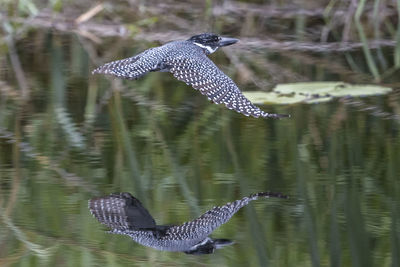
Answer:
M214 53L218 48L227 46L239 41L235 38L221 37L213 33L202 33L188 39L189 42L203 48L207 54Z

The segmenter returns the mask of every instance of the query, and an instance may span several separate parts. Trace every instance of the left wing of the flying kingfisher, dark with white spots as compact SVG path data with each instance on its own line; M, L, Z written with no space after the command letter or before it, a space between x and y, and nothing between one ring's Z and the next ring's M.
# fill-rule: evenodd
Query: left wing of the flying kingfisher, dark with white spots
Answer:
M160 56L158 47L130 57L104 64L93 70L92 73L110 74L124 79L138 79L150 71L157 71L160 68Z

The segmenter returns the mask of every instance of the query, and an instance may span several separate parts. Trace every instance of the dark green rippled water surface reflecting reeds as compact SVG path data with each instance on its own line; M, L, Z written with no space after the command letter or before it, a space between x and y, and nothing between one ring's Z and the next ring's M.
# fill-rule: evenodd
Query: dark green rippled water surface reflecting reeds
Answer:
M103 62L156 44L119 45ZM17 48L30 92L26 101L16 97L3 54L0 265L399 266L397 120L340 100L262 107L290 119L248 118L167 73L126 82L92 76L100 62L74 35L38 32ZM261 81L294 82L285 69L305 80L358 81L349 70L259 57L273 63L258 74ZM239 87L259 89L224 52L212 59ZM362 101L399 112L396 93ZM121 191L164 224L259 191L290 199L252 202L213 234L234 245L191 256L105 233L87 200Z

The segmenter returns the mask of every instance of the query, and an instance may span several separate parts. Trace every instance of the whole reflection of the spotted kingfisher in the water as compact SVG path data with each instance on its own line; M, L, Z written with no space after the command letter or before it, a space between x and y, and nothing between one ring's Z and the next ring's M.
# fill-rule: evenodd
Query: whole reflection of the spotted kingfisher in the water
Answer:
M287 198L280 193L261 192L214 207L195 220L180 225L157 225L141 202L129 193L116 193L89 200L89 209L110 233L130 236L137 243L166 251L188 254L210 254L230 245L229 239L209 235L226 223L240 208L258 198Z

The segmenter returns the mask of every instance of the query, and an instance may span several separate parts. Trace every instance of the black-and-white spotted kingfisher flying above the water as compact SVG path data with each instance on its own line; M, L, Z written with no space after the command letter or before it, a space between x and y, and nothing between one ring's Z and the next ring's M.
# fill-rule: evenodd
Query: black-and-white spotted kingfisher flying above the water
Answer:
M150 71L169 71L175 78L191 85L216 104L225 104L246 116L282 118L285 114L267 113L256 107L207 55L238 39L203 33L186 41L173 41L150 48L130 58L107 63L93 73L138 79Z

